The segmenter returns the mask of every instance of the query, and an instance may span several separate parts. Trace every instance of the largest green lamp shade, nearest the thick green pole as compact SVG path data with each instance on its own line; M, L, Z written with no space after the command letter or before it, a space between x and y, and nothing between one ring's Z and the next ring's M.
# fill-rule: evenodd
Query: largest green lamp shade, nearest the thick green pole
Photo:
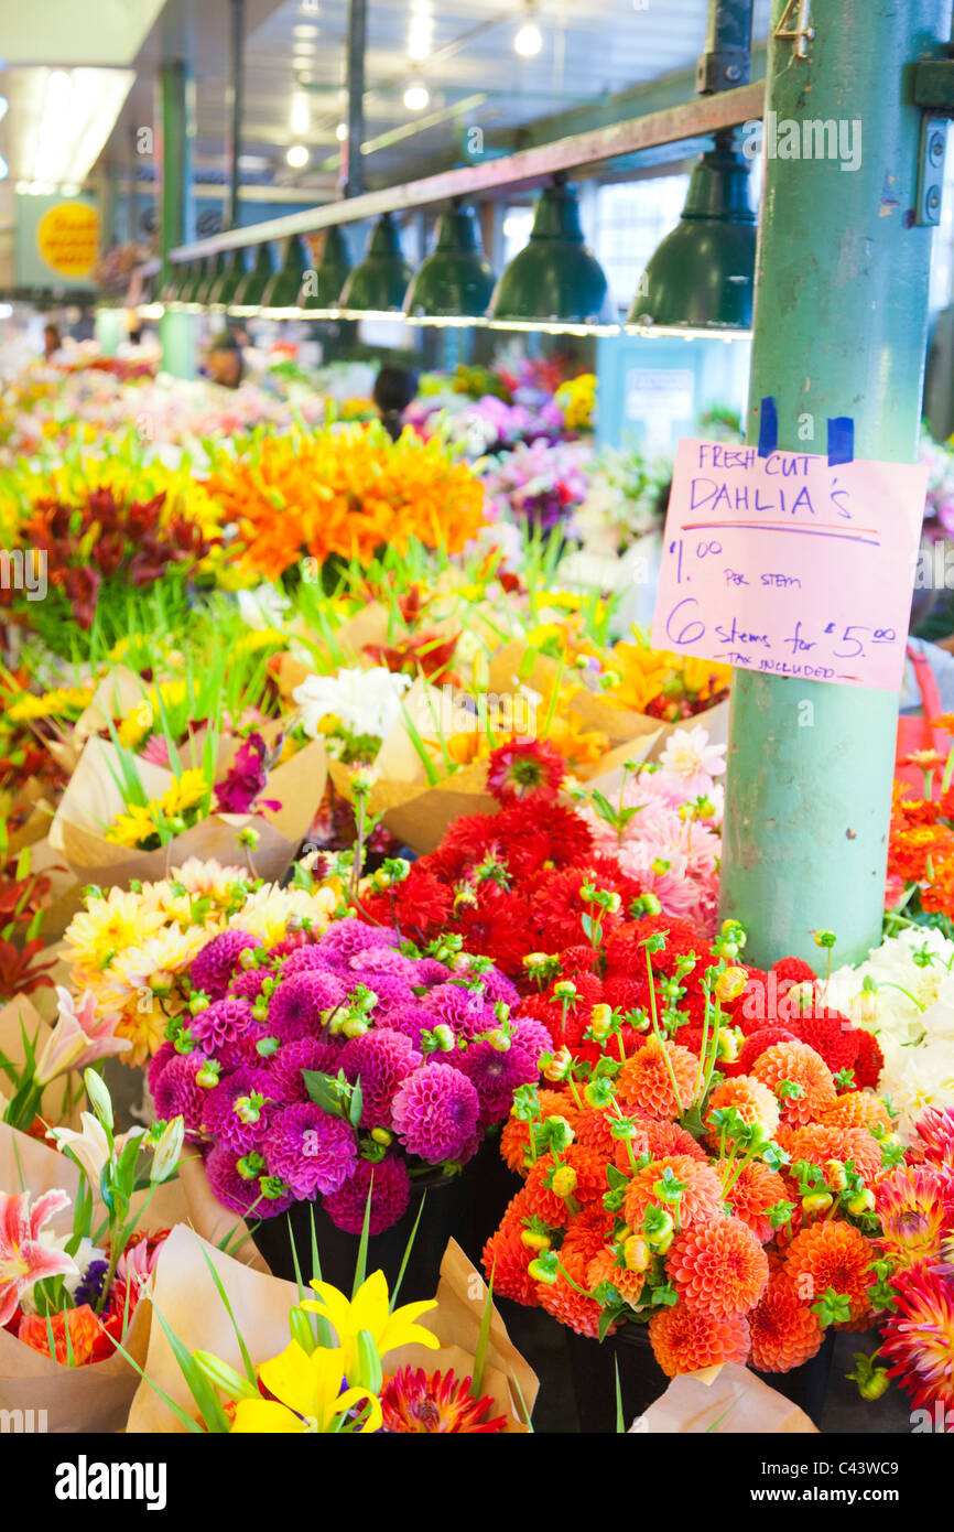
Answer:
M649 260L626 328L747 336L753 288L749 165L730 142L717 141L692 170L683 214Z

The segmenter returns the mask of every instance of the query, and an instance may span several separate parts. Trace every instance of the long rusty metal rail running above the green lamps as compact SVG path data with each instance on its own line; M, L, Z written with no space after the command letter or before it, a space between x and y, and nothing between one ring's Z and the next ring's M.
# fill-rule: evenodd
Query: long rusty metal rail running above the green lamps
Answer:
M743 86L724 90L715 97L700 97L681 106L651 112L628 123L614 123L588 133L541 144L534 149L488 159L459 170L446 170L423 181L407 181L403 185L386 187L381 192L366 192L325 207L308 208L305 213L289 213L286 218L268 219L247 228L234 228L211 239L199 239L179 245L172 251L176 262L198 256L213 256L219 250L236 250L260 245L273 239L288 239L291 234L314 234L332 224L351 224L381 213L403 213L449 202L452 198L473 198L504 187L533 187L559 172L580 172L631 155L657 144L678 144L688 138L718 133L741 123L750 123L763 115L764 84Z

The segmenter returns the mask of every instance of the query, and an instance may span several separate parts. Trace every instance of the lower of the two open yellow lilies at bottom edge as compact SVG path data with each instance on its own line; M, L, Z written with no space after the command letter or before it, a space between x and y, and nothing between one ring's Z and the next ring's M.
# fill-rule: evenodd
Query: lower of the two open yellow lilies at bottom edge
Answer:
M334 1291L334 1288L332 1288ZM335 1429L337 1416L368 1400L371 1414L364 1431L380 1431L380 1400L364 1388L346 1388L341 1393L341 1353L319 1347L311 1356L291 1340L270 1362L259 1368L259 1377L274 1399L240 1399L236 1405L233 1435L236 1432L299 1432L322 1435Z

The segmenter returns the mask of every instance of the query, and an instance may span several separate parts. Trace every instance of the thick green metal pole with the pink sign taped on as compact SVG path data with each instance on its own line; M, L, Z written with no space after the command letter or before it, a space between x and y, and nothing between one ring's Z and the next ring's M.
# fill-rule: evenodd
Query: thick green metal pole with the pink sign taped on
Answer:
M824 453L850 415L854 457L913 463L931 259L913 74L945 57L951 3L815 0L813 37L779 38L805 9L772 6L747 440L772 395L782 449ZM836 158L781 158L805 119L841 127ZM880 939L896 722L894 692L735 671L720 913L750 962L818 961L815 930L836 962Z

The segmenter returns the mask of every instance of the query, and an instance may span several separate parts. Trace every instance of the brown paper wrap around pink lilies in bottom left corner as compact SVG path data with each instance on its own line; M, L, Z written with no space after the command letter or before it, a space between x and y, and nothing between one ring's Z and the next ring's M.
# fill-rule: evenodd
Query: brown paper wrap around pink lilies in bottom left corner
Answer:
M74 1198L78 1183L80 1170L72 1160L49 1144L0 1123L0 1190L12 1193L26 1190L35 1200L43 1192L61 1187ZM144 1198L145 1192L138 1196ZM181 1186L175 1181L165 1183L155 1189L139 1227L150 1233L167 1229L184 1210ZM93 1210L93 1227L104 1216L104 1209ZM52 1218L51 1226L58 1235L70 1233L72 1207ZM150 1305L142 1299L123 1342L139 1365L149 1345L150 1318ZM32 1409L34 1420L44 1422L41 1429L93 1434L121 1431L136 1383L135 1368L119 1351L87 1367L66 1367L34 1351L8 1330L0 1330L0 1411ZM37 1411L46 1414L37 1416Z

